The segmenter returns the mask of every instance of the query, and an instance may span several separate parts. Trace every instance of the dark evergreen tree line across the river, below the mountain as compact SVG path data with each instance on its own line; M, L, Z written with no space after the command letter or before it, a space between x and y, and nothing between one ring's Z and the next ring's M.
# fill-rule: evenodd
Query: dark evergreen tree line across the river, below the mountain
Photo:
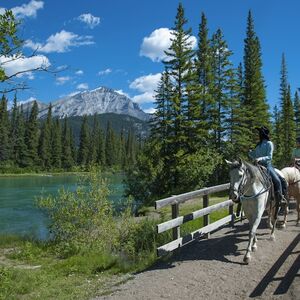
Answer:
M97 116L92 128L87 116L83 117L79 145L75 144L68 119L52 117L49 105L45 120L38 119L38 105L34 102L30 111L18 106L16 97L11 110L3 95L0 101L0 171L72 170L86 169L90 165L121 167L135 163L141 148L141 140L133 130L116 133L107 123L100 128Z

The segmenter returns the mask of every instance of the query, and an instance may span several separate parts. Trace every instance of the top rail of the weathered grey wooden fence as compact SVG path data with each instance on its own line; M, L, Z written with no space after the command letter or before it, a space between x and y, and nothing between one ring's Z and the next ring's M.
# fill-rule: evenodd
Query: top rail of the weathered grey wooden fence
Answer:
M195 197L202 197L204 195L217 193L217 192L221 192L221 191L226 191L227 189L229 189L229 183L216 185L216 186L212 186L212 187L208 187L208 188L203 188L201 190L188 192L188 193L180 194L177 196L172 196L172 197L168 197L165 199L157 200L157 201L155 201L155 209L159 209L166 205L171 205L174 203L178 203L178 204L183 203L183 202L193 199Z

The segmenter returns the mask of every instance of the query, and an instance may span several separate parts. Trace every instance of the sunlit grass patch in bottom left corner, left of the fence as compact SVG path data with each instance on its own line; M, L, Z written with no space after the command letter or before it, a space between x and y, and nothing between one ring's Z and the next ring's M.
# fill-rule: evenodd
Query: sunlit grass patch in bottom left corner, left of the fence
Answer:
M59 259L51 250L50 245L2 236L0 299L90 299L128 280L124 274L133 270L110 253Z

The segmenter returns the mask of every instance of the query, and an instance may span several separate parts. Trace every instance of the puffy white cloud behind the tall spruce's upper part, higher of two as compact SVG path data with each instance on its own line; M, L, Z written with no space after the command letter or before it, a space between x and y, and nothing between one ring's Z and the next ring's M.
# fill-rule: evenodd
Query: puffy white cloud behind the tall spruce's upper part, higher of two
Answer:
M150 58L152 61L161 61L167 58L165 50L171 46L172 30L169 28L159 28L154 30L150 36L144 37L140 49L140 56ZM197 45L197 39L191 36L191 48L194 49Z

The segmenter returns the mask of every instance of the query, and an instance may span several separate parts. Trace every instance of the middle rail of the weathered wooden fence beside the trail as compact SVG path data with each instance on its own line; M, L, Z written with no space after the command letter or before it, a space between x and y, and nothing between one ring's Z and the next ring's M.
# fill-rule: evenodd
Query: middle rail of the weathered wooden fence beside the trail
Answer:
M211 205L211 206L206 207L206 208L201 208L201 209L196 210L196 211L194 211L190 214L187 214L185 216L181 216L181 217L178 217L176 219L172 219L172 220L166 221L164 223L158 224L156 226L157 233L164 232L164 231L169 230L171 228L180 226L180 225L182 225L186 222L201 218L201 217L203 217L203 216L205 216L209 213L212 213L213 211L219 210L221 208L224 208L224 207L227 207L227 206L230 206L230 205L233 205L232 200L226 200L226 201Z

